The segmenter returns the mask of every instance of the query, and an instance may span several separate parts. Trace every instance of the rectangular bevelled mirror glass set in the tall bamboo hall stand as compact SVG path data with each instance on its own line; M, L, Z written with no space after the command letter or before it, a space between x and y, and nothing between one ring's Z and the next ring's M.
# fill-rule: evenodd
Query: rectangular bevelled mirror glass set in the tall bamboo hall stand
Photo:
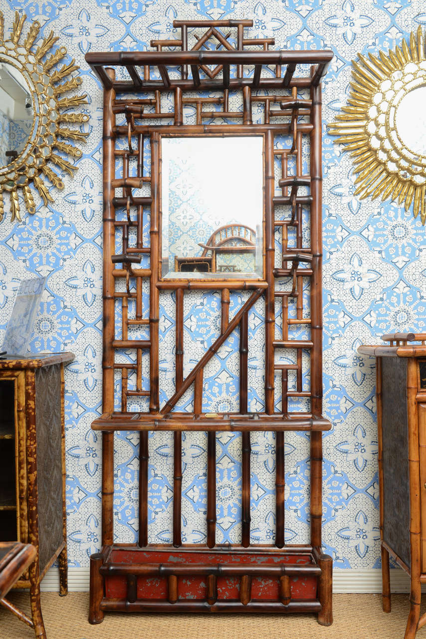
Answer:
M162 275L263 275L263 139L162 138Z

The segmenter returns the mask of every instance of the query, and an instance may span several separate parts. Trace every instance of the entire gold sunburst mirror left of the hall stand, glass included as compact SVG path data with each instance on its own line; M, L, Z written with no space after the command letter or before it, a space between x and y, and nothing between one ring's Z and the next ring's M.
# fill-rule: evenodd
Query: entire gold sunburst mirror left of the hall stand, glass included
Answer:
M31 183L45 205L53 202L51 185L64 187L58 169L73 175L77 167L67 157L82 156L75 142L86 142L87 136L73 126L89 120L72 111L87 104L86 94L75 95L82 82L79 66L74 60L63 62L66 49L56 47L58 38L52 32L38 40L38 22L24 29L26 19L15 12L8 32L0 12L0 221L4 192L10 198L12 221L21 220L20 190L27 211L35 213ZM65 96L70 92L73 95Z

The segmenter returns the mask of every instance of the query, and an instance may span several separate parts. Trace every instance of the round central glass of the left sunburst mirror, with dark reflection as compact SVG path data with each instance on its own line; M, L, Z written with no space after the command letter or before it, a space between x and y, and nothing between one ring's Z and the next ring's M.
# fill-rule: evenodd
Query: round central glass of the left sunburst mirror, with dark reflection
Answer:
M33 119L26 79L15 66L0 61L0 166L7 166L24 150Z

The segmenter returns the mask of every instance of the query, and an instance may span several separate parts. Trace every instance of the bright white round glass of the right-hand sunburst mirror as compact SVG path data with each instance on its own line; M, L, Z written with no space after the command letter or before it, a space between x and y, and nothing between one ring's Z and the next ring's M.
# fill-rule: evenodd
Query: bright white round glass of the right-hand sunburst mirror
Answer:
M426 155L426 86L409 91L400 101L395 124L400 140L418 155Z

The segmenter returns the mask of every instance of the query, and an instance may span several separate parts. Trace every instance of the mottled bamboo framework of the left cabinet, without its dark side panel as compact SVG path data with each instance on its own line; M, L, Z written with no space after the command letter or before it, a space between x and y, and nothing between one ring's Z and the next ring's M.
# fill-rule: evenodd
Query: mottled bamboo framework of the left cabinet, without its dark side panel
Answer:
M34 629L35 636L45 639L42 610L40 604L40 582L54 564L59 563L59 595L65 596L68 592L68 562L66 553L66 500L65 500L65 410L64 410L64 362L70 362L74 358L73 353L57 353L53 355L40 355L29 359L0 360L0 383L13 381L15 389L14 397L14 421L13 438L15 439L15 500L10 509L16 511L17 537L21 543L34 546L34 561L29 568L19 574L19 579L14 587L29 588L31 605L31 619L24 615L18 608L4 600L1 604L13 614ZM42 422L43 415L36 411L36 375L42 367L59 366L59 385L57 389L57 401L60 403L59 420L54 427L59 429L60 449L57 456L61 468L61 497L62 509L59 513L61 519L61 543L52 551L48 558L40 558L40 535L46 534L39 525L39 475L40 458L38 459L38 441L40 428L38 420ZM39 391L41 392L41 391ZM1 435L0 435L1 436ZM40 453L39 453L40 455Z

